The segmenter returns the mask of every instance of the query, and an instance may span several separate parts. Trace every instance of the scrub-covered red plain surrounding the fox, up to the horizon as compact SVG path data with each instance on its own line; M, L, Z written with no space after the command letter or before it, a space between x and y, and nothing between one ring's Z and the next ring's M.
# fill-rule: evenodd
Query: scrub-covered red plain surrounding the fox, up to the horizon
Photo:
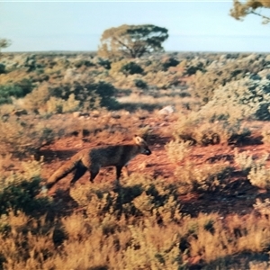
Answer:
M2 54L0 269L269 269L268 60ZM133 134L153 154L119 186L108 168L42 190Z

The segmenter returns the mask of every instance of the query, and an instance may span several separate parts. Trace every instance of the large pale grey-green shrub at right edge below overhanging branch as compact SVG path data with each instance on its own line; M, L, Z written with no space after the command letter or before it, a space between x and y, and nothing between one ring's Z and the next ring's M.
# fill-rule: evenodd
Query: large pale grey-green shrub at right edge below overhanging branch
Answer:
M270 80L266 77L253 80L246 76L217 88L211 101L202 107L201 114L211 112L215 117L266 121L270 119L269 105Z

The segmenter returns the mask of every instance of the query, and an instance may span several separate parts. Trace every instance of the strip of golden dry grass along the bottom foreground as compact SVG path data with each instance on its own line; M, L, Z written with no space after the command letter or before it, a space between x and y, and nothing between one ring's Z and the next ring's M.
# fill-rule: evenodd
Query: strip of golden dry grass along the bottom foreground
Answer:
M268 220L252 214L225 219L200 214L161 226L157 221L87 211L49 228L44 218L10 212L4 220L9 232L0 236L3 269L175 269L194 257L210 264L238 253L262 252L270 243Z

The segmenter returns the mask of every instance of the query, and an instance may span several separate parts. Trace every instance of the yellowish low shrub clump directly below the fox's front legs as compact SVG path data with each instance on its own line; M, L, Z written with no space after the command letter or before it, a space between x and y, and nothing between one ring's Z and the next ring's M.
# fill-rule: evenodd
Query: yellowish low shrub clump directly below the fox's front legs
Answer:
M119 218L122 214L126 218L148 217L154 223L164 224L181 219L178 194L173 184L166 184L166 181L151 184L151 179L139 174L130 175L121 183L113 192L110 185L99 184L90 190L78 186L71 189L70 194L79 205L87 206L86 212L93 218L103 219L110 213Z

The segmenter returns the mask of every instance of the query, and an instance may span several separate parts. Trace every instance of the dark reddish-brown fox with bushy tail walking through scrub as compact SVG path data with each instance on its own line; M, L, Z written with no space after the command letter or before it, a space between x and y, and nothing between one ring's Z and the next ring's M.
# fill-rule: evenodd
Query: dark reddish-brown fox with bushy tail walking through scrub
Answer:
M119 181L121 169L123 166L127 168L128 163L133 157L139 154L151 155L146 141L139 136L134 136L135 144L112 145L97 148L85 148L67 161L66 164L60 166L58 170L49 177L46 187L49 189L58 180L76 170L71 184L85 175L86 170L90 171L90 181L94 181L94 177L99 173L103 166L116 167L116 181Z

